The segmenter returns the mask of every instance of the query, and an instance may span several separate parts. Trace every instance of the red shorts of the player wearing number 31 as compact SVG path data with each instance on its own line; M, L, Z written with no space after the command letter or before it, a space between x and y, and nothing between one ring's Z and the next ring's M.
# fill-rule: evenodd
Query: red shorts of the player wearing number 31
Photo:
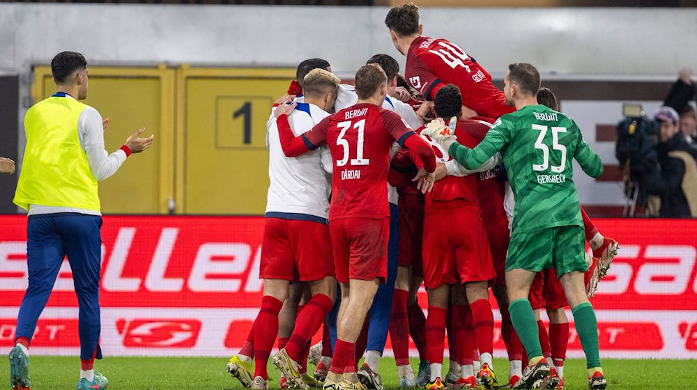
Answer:
M373 280L388 276L390 217L329 221L337 281Z

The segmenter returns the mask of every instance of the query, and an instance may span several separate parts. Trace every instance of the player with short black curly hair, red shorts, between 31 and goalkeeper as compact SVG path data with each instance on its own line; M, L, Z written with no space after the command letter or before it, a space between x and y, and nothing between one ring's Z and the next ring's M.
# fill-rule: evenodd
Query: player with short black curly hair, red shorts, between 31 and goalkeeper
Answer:
M454 97L454 98L453 98ZM434 99L438 118L461 116L460 96L457 86L441 88ZM453 104L454 103L454 104ZM457 140L465 145L476 145L464 127L489 126L472 120L457 122L454 133ZM485 130L484 130L485 131ZM424 137L424 136L422 136ZM447 164L450 156L438 143L431 142L440 162ZM486 171L498 162L492 158L489 164L477 169ZM469 171L464 173L474 173ZM463 174L464 174L463 173ZM456 383L459 387L476 388L471 361L473 345L468 345L466 334L474 331L475 343L480 351L482 367L478 377L487 389L496 386L493 374L493 314L489 304L489 281L496 276L491 260L491 249L487 237L482 210L477 196L474 175L463 177L445 176L427 194L424 218L424 283L429 295L429 315L427 318L427 357L431 363L431 382L427 389L442 389L443 336L448 299L453 286L464 285L464 293L454 290L453 313L464 327L454 329L457 343L461 377ZM464 229L453 226L466 226ZM469 304L469 305L468 305ZM467 329L470 318L474 329ZM457 322L456 322L457 323Z

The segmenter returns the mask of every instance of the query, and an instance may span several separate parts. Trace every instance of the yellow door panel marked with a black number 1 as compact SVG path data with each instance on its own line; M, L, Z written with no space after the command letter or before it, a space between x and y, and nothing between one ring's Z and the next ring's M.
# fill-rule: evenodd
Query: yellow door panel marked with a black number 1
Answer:
M176 212L263 214L266 122L295 70L183 65L177 72Z

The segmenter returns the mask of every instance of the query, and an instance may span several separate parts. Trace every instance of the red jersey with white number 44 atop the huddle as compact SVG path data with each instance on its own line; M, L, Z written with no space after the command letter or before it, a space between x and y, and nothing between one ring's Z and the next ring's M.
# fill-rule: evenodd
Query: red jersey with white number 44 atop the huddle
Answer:
M462 104L482 116L498 118L515 111L506 105L503 91L491 84L491 75L482 65L445 39L416 38L406 55L404 75L428 100L445 84L455 84Z

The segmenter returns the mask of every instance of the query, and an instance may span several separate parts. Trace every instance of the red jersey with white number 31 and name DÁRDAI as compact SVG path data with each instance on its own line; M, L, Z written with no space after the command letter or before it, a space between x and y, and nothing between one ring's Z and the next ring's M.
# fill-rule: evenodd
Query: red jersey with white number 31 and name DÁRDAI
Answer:
M330 220L390 215L390 149L392 143L403 144L412 134L399 115L369 103L342 109L303 134L313 145L326 142L332 153Z

